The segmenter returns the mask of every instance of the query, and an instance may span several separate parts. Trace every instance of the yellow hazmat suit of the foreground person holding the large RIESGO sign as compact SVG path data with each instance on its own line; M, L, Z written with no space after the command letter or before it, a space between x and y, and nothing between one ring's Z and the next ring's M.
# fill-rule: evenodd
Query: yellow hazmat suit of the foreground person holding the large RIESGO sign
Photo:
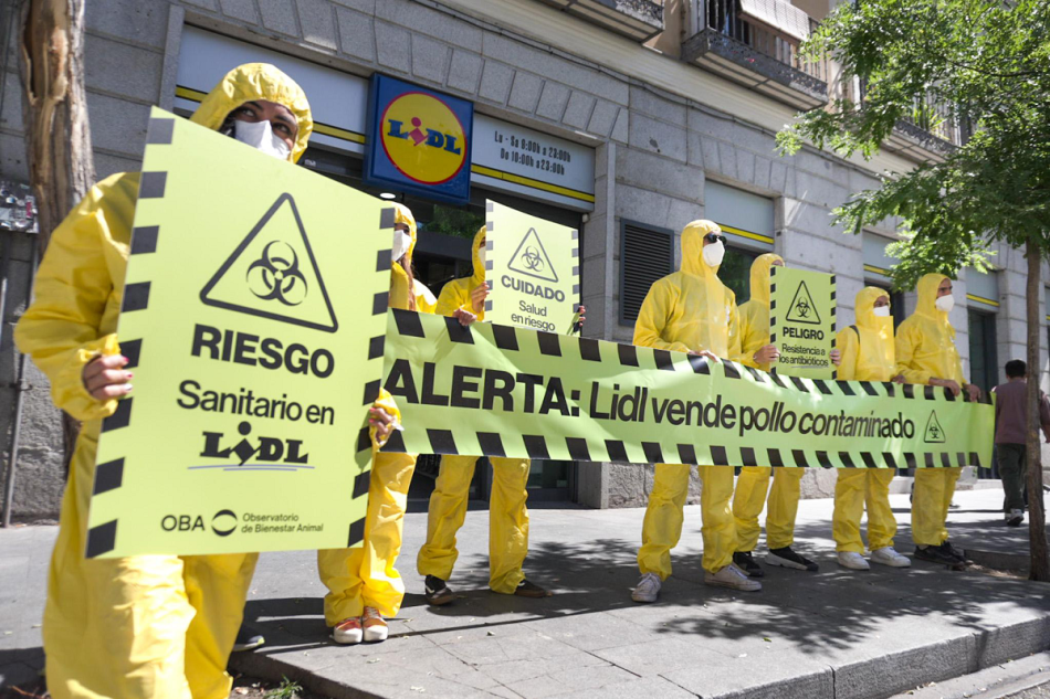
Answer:
M298 123L290 160L306 149L306 95L272 65L231 71L192 120L218 129L250 100L286 106ZM14 331L19 349L51 380L55 405L83 421L51 559L43 638L48 688L65 697L228 697L227 659L240 627L256 554L84 558L87 507L102 419L81 381L99 354L119 354L115 335L139 174L109 177L55 229L36 273L35 299Z

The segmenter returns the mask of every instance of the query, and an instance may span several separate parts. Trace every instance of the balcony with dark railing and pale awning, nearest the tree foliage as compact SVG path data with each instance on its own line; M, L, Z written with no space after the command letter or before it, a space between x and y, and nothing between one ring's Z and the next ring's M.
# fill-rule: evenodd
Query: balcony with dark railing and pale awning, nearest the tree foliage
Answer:
M693 0L685 60L802 109L828 102L831 65L798 47L816 25L785 0ZM762 17L747 10L764 11Z

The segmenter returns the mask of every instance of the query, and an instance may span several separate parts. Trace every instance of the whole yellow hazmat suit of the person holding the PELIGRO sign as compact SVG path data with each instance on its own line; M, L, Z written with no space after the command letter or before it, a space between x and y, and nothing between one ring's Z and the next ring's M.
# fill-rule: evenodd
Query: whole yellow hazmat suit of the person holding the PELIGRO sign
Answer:
M769 269L775 262L784 264L780 255L766 253L752 264L752 297L741 305L741 350L745 364L769 371L771 364L758 364L755 352L769 345ZM769 512L766 516L766 544L783 549L795 542L795 517L798 515L799 481L804 468L784 467L776 473L768 466L744 466L733 496L733 517L736 518L736 550L754 551L758 544L758 516L769 493ZM773 476L773 490L769 478Z

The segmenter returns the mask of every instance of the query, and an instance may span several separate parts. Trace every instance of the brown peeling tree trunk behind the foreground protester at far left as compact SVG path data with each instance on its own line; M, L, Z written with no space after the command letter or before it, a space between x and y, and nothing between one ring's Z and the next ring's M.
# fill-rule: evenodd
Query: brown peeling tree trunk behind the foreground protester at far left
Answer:
M84 0L22 0L18 38L25 151L43 256L51 232L95 181L84 94ZM66 469L78 430L63 413Z

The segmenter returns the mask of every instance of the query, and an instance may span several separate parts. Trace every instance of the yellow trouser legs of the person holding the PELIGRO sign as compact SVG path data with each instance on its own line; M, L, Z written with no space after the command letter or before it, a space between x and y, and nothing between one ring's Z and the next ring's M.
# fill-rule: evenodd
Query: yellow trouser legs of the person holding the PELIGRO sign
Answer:
M773 473L773 489L769 477ZM798 516L799 483L805 468L744 466L736 479L733 497L733 517L736 519L736 550L754 551L758 546L758 516L766 505L769 491L769 511L766 513L766 546L783 549L795 543L795 518Z

